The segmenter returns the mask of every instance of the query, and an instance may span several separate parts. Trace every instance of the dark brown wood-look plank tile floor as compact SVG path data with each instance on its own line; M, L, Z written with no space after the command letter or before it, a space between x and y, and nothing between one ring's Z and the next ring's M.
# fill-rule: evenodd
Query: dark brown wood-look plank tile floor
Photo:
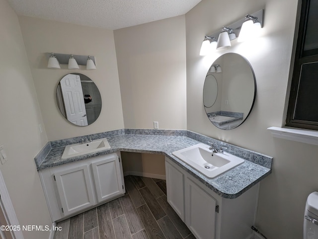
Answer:
M54 239L195 239L167 202L165 180L125 177L126 194L62 221Z

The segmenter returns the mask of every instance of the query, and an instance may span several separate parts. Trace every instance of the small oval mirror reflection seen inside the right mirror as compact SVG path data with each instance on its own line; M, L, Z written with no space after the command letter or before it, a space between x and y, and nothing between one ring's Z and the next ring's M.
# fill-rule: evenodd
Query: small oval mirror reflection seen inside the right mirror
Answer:
M218 82L213 75L205 77L203 86L203 103L204 107L212 107L218 96Z

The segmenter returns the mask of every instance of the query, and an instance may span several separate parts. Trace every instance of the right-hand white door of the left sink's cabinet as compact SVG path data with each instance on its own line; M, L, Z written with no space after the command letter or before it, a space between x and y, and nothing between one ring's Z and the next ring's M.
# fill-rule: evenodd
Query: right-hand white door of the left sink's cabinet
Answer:
M98 202L124 193L119 157L103 156L91 163Z

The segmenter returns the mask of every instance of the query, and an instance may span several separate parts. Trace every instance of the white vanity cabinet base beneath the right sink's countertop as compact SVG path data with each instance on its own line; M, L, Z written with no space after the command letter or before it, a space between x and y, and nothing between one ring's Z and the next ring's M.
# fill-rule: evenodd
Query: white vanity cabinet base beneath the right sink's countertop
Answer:
M179 216L184 215L180 218L197 239L249 237L254 225L258 184L235 199L227 199L168 158L165 168L168 203Z

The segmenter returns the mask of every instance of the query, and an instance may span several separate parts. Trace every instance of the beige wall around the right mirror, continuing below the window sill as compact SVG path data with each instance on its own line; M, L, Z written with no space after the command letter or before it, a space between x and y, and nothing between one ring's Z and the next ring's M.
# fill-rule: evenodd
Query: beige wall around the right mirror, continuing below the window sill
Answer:
M256 225L268 239L303 237L307 196L318 190L318 146L273 138L270 126L282 126L296 21L297 0L202 0L186 14L187 129L274 157L272 174L260 185ZM212 57L200 57L205 34L265 9L261 36L236 43ZM221 54L236 52L251 63L257 84L249 118L233 130L221 130L206 117L202 87L210 64Z

